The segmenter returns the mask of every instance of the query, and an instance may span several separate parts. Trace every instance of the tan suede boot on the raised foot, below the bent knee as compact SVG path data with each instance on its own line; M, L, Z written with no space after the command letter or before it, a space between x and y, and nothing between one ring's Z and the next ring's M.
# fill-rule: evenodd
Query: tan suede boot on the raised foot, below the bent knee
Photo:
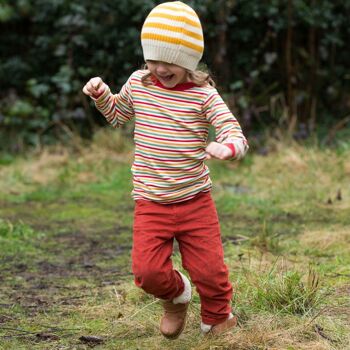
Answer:
M164 315L160 321L160 332L168 339L176 339L185 328L189 303L174 304L163 301Z

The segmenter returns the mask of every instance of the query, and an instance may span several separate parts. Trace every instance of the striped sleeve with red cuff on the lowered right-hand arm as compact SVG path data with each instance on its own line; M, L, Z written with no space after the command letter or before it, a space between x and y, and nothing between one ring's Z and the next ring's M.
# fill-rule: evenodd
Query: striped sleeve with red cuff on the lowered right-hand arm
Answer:
M206 119L215 128L216 142L228 146L234 159L241 159L248 151L248 143L241 126L216 89L212 89L203 103Z

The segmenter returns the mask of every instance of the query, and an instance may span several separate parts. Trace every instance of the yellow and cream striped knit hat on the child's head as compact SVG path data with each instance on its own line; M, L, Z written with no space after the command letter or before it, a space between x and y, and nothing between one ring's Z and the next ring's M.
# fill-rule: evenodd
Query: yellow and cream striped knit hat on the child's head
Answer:
M183 2L164 2L146 18L141 44L145 60L173 63L193 71L204 50L200 20Z

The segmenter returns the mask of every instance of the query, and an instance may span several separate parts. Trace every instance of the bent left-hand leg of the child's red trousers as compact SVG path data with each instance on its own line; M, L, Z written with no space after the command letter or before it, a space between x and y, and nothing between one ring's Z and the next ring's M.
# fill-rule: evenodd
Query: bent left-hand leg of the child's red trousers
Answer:
M165 300L174 299L184 290L183 280L171 261L173 224L170 206L136 201L132 248L135 284Z

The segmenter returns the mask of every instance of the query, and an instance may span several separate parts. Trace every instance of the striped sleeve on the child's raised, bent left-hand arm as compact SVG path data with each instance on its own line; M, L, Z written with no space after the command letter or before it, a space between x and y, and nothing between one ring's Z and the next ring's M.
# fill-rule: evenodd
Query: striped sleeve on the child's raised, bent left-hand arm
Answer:
M115 128L123 125L134 117L134 107L131 89L132 76L124 84L118 94L113 95L109 87L95 101L96 108Z

